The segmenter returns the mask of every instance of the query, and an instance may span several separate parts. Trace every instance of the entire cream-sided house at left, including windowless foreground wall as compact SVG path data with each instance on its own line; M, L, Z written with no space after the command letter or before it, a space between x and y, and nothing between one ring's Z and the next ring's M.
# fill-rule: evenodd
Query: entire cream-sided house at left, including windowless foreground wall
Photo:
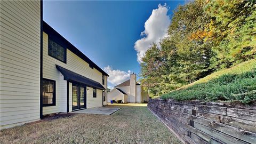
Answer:
M109 75L43 21L42 4L1 1L1 129L107 105Z

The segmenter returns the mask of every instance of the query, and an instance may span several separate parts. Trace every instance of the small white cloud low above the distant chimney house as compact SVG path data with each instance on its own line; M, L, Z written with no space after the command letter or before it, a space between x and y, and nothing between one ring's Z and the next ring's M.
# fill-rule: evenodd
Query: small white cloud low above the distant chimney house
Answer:
M105 67L104 71L109 75L108 82L113 85L122 83L125 79L129 78L132 73L131 70L126 72L119 69L112 69L110 66Z

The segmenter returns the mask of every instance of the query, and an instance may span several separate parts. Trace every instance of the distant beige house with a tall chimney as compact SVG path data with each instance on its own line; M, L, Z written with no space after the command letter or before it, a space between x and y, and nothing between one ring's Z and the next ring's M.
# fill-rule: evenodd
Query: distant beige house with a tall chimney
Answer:
M141 84L136 81L136 74L131 74L130 79L114 86L110 92L108 92L108 102L110 100L122 100L126 102L145 102L148 101L149 95L142 89Z

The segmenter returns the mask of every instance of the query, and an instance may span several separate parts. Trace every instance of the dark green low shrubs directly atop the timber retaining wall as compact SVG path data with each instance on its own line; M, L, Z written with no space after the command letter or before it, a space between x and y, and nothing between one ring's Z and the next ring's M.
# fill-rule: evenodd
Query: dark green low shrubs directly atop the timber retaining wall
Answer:
M178 100L239 100L250 103L256 100L256 70L243 74L227 74L207 83L195 84L187 89L162 95L162 99Z

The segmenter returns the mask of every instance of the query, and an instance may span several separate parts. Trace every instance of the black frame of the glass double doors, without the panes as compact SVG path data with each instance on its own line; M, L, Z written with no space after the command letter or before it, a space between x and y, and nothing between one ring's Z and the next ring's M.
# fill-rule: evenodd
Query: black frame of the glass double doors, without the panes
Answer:
M74 82L71 82L72 83L72 95L71 95L71 102L73 103L73 86L77 86L77 108L74 108L73 107L73 104L72 104L72 111L76 111L76 110L81 110L81 109L86 109L86 86L85 85L79 85L77 83L74 83ZM79 108L80 107L80 87L84 87L84 107L83 108Z

